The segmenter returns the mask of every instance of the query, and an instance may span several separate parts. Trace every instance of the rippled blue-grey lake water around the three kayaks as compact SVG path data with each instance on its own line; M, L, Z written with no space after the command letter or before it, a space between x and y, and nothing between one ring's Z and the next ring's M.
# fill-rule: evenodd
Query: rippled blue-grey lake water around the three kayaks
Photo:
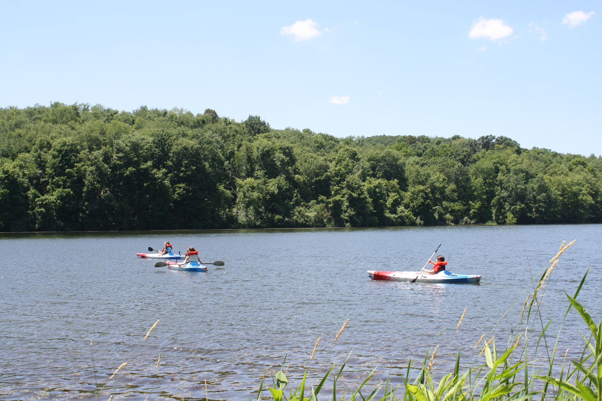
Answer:
M389 378L399 384L409 360L420 364L434 346L433 369L444 372L453 369L458 349L463 364L472 363L482 334L493 333L497 346L506 346L533 292L533 278L563 240L576 239L541 299L543 324L553 319L552 347L568 307L564 293L573 295L598 259L601 229L0 234L0 399L107 400L115 394L249 400L262 376L272 385L285 360L298 384L304 367L315 378L348 357L341 385L361 382L375 368L372 382ZM135 256L148 246L161 248L164 240L182 253L195 246L203 261L223 260L225 266L209 266L206 273L168 271ZM438 253L448 260L447 269L481 274L480 284L390 283L366 274L417 271L441 241ZM596 322L601 283L602 273L592 269L578 298ZM588 331L571 311L562 333L559 352L573 355ZM533 334L528 343L536 340ZM122 363L123 374L108 381Z

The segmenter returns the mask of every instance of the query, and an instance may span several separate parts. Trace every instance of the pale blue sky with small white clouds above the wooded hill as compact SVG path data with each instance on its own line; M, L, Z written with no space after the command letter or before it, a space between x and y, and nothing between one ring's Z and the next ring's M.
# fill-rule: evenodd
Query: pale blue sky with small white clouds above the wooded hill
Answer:
M600 1L6 2L0 106L602 153Z

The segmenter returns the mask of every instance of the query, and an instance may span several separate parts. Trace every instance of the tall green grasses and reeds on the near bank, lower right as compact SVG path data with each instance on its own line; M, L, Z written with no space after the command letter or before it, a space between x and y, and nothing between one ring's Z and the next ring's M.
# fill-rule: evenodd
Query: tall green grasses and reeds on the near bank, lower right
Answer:
M476 353L474 361L466 368L461 368L461 349L459 349L453 368L450 367L447 373L433 373L432 366L437 351L435 347L433 352L429 351L430 358L427 355L418 369L412 368L411 361L408 362L401 385L391 386L389 381L371 383L373 371L356 388L350 390L349 387L343 387L341 390L339 382L345 368L343 364L338 372L333 372L333 366L324 375L318 376L320 379L317 384L309 386L307 377L310 372L306 369L299 384L287 393L287 387L292 384L283 364L283 368L272 378L272 387L264 388L264 380L261 381L257 400L267 397L275 401L314 401L319 397L332 401L547 399L602 401L602 321L596 325L586 308L577 301L589 269L583 275L576 292L572 296L566 294L568 308L562 318L563 322L569 310L574 308L591 331L589 338L583 338L585 347L579 358L569 363L566 361L556 363L560 331L556 335L554 346L548 346L547 338L551 335L547 331L551 322L544 323L541 314L542 297L550 274L559 262L560 255L574 242L568 244L563 242L559 252L542 270L539 280L533 283L533 291L524 301L519 327L513 331L507 341L504 341L505 345L502 348L496 345L495 329L489 334L483 334L474 346ZM459 320L458 329L465 313L466 310ZM562 324L560 327L562 328ZM337 337L340 334L341 332ZM534 347L527 348L529 337L534 338ZM547 360L544 363L531 363L530 361L536 359L535 355L541 347L547 355ZM312 358L314 354L315 347ZM325 384L330 384L326 394L323 393Z

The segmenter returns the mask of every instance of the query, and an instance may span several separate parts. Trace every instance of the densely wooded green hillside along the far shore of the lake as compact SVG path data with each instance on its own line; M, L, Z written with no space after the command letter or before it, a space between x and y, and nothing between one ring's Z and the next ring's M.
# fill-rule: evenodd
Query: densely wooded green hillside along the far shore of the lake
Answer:
M400 124L400 131L403 128ZM602 159L173 109L0 109L0 231L602 221Z

